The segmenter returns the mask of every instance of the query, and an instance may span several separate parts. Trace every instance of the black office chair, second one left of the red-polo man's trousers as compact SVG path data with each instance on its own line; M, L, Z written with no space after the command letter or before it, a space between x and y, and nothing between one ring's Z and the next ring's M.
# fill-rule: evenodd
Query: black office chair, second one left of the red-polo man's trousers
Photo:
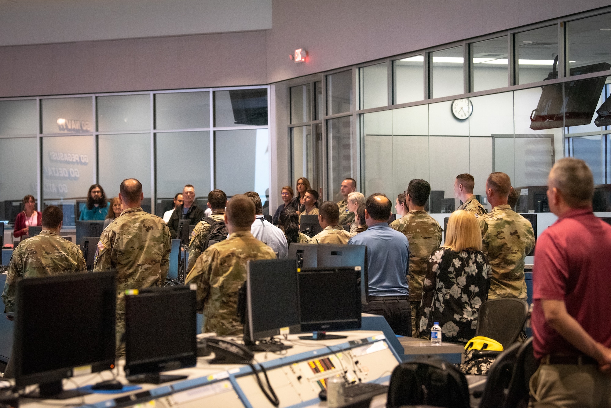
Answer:
M505 390L509 387L522 344L515 343L499 354L490 370L479 408L499 408L505 403Z

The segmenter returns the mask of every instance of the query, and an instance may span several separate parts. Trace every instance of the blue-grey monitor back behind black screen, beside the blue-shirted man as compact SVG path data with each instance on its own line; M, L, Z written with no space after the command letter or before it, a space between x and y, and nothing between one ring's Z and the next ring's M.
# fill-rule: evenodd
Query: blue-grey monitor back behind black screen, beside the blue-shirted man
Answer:
M369 275L367 274L366 245L318 244L318 268L329 266L358 266L360 271L360 302L367 304L369 295Z

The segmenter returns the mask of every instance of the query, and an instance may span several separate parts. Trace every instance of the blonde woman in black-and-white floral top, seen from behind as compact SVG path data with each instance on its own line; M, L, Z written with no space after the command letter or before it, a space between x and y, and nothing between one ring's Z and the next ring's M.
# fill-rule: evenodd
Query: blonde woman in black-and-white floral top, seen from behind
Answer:
M444 246L428 261L420 303L420 337L430 337L434 322L442 338L466 343L475 337L480 306L488 299L491 269L481 252L481 230L473 213L454 211Z

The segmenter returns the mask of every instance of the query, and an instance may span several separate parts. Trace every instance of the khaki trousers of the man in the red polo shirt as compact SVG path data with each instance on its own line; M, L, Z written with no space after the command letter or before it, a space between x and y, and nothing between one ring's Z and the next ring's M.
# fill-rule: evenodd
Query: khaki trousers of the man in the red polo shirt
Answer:
M530 378L530 395L530 408L609 408L611 376L591 364L542 364Z

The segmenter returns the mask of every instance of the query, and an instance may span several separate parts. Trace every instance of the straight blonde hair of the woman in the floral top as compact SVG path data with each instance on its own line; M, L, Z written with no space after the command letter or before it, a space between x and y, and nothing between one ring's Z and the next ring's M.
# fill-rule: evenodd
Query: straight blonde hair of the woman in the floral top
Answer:
M444 247L455 252L464 249L481 251L480 224L473 213L459 209L450 215L445 229Z

